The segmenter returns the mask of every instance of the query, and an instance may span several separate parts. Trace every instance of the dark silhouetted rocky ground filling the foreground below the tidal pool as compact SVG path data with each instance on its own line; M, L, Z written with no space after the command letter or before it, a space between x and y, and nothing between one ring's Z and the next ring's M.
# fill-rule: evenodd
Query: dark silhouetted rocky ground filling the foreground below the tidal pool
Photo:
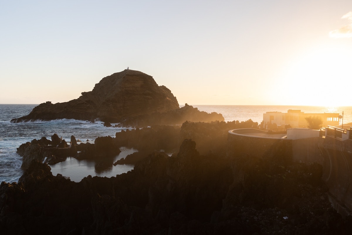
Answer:
M287 164L287 165L286 165ZM270 154L203 156L186 139L133 171L75 183L32 161L0 185L2 234L350 234L332 208L321 166Z

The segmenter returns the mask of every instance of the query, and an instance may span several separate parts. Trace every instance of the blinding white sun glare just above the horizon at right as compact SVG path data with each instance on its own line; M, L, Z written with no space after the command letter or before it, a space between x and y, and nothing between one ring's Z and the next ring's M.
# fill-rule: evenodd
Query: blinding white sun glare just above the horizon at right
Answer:
M290 104L350 106L352 53L321 46L297 57L282 71L283 100Z

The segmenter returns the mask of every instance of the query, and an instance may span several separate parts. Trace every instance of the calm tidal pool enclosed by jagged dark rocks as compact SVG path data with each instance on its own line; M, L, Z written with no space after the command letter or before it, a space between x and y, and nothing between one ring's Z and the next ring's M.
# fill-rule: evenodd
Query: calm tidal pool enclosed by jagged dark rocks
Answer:
M94 160L77 160L74 157L67 157L66 161L50 165L51 172L55 176L62 174L64 177L70 177L71 181L80 182L88 175L100 177L112 177L131 171L134 165L112 165L122 157L126 158L128 154L137 152L133 148L120 148L121 153L114 157L108 157L100 161Z

